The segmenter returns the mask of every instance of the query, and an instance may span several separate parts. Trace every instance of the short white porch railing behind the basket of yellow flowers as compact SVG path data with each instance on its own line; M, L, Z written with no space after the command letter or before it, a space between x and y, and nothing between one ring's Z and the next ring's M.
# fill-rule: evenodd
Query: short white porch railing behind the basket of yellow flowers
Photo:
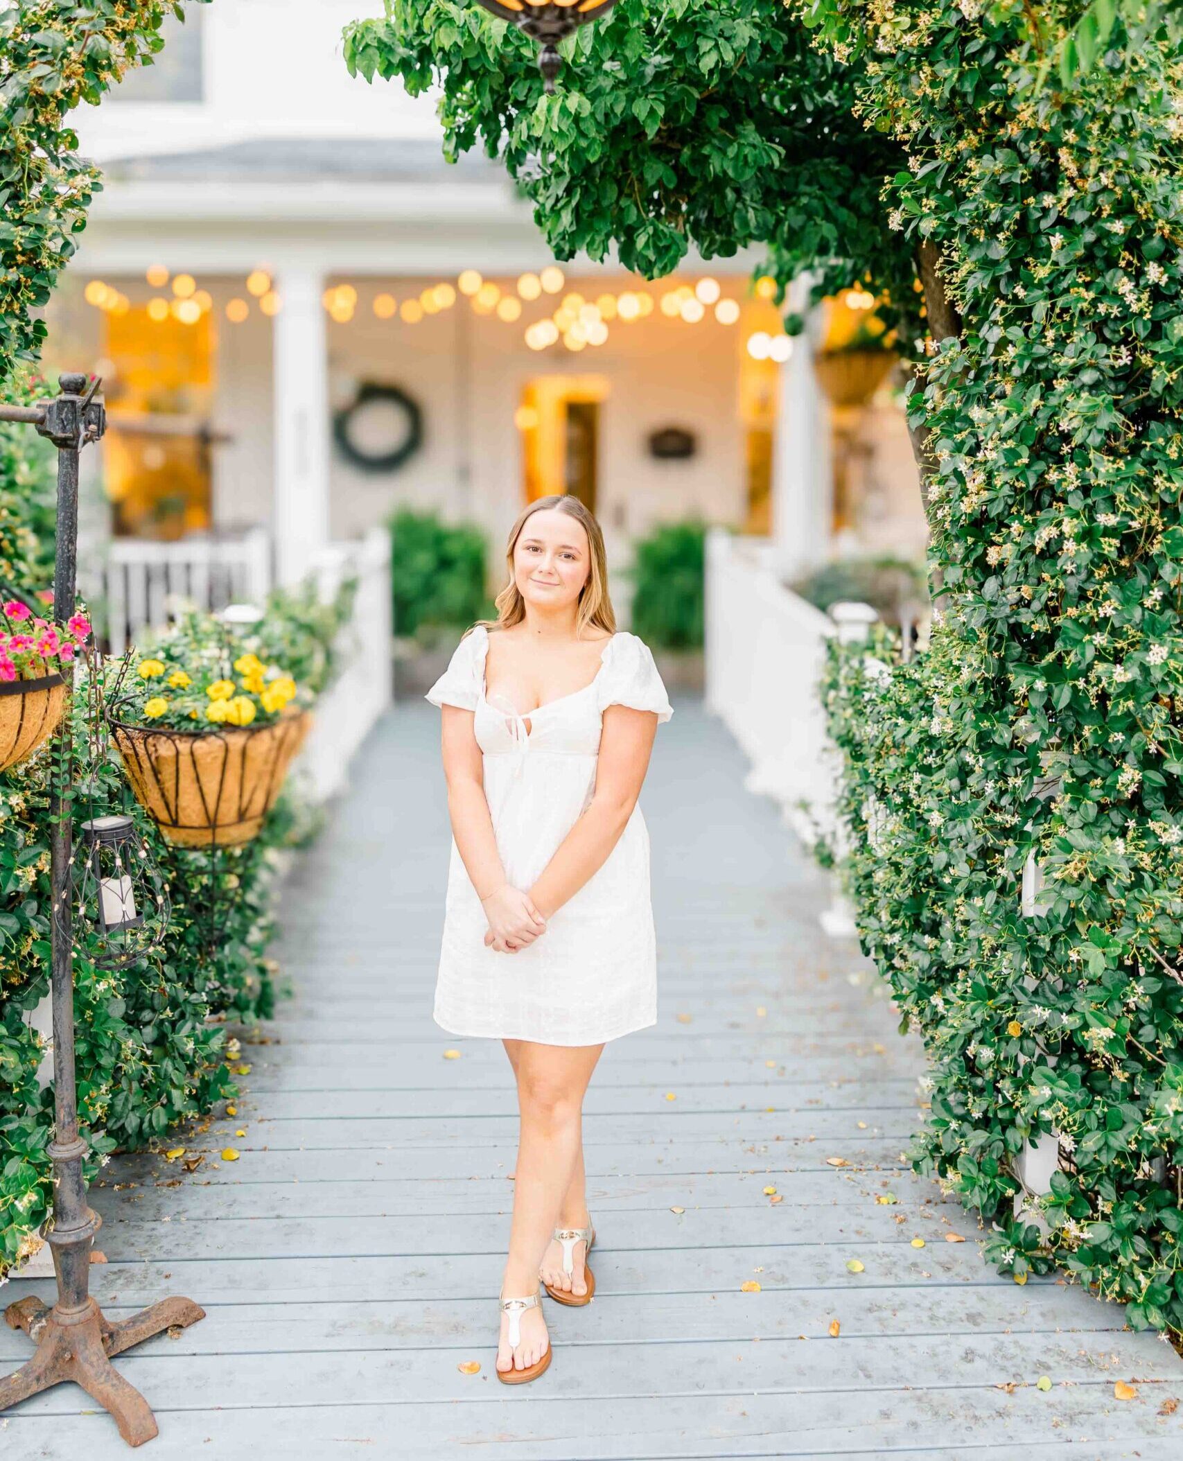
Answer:
M270 583L264 527L234 538L194 533L177 542L115 538L102 567L110 650L123 655L145 630L166 628L172 596L199 609L223 609L228 603L261 603Z

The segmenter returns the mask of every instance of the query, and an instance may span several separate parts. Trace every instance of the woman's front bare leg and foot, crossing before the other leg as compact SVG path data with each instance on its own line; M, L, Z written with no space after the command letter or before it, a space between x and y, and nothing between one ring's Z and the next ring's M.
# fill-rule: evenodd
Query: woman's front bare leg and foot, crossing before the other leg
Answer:
M603 1050L602 1045L516 1043L521 1137L510 1254L501 1281L501 1293L507 1297L529 1294L537 1289L542 1256L575 1175L583 1096ZM516 1350L507 1343L507 1331L508 1319L502 1316L497 1349L499 1370L526 1369L542 1359L548 1338L540 1309L527 1309L521 1315L521 1343Z

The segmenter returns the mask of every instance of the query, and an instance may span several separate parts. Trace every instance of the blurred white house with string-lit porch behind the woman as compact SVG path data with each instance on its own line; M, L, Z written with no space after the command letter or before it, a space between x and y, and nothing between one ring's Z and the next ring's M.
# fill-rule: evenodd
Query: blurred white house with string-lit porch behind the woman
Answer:
M770 536L777 573L837 530L917 549L898 405L831 415L812 368L849 301L790 348L755 257L651 285L556 267L497 164L443 161L431 102L348 75L364 4L188 7L79 117L107 181L47 364L105 378L101 536L150 558L253 529L291 580L407 503L483 524L495 561L529 498L568 489L618 562L689 514Z

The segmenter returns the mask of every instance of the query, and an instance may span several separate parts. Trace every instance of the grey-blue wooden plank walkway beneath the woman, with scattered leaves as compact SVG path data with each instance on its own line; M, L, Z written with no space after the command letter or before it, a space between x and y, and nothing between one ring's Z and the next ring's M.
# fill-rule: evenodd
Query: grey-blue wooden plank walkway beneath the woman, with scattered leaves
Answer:
M917 1048L821 935L824 885L727 733L676 704L643 793L660 1024L592 1083L597 1296L548 1305L551 1370L494 1376L514 1096L499 1045L431 1021L448 833L438 713L412 704L294 874L292 998L244 1053L238 1116L190 1137L207 1156L181 1186L130 1159L95 1194L108 1313L169 1293L207 1311L118 1362L156 1410L153 1458L1180 1455L1173 1350L1076 1287L999 1278L974 1220L901 1166ZM29 1292L51 1284L0 1299ZM0 1325L0 1370L23 1354ZM0 1455L124 1455L88 1405L28 1403Z

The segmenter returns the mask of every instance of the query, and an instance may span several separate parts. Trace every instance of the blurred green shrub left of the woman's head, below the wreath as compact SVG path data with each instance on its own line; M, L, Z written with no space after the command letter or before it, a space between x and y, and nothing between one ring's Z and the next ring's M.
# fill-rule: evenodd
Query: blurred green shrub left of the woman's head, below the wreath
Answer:
M390 535L396 634L497 617L485 593L485 536L478 527L402 508L390 519Z

